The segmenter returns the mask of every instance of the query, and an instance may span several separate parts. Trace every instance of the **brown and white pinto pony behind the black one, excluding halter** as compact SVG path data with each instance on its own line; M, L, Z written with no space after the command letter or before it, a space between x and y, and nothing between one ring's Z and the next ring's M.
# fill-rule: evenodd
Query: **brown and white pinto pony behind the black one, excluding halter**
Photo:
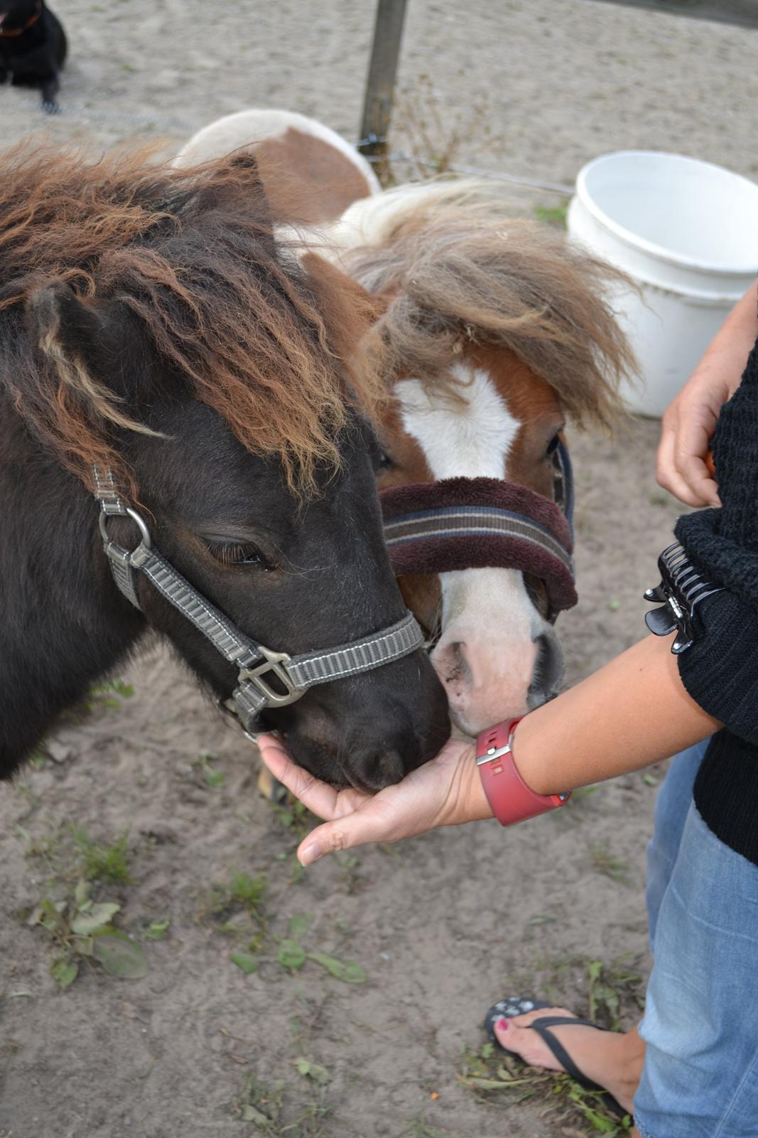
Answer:
M222 148L258 154L264 114L236 116L240 132L225 129ZM286 113L276 114L292 141ZM213 152L214 129L201 132L202 157ZM313 137L324 130L314 124ZM314 148L303 145L299 156L288 146L286 166L270 171L274 196L308 180L315 192ZM197 157L191 141L178 160ZM558 231L513 220L498 185L438 181L374 193L365 159L352 157L365 174L360 196L339 221L301 236L386 305L378 328L392 348L393 398L380 489L484 478L550 498L566 422L611 426L618 379L634 368L606 299L616 272ZM333 214L333 173L311 216ZM297 209L289 218L308 225ZM400 584L435 641L432 661L461 731L476 734L557 693L563 653L539 580L495 562Z

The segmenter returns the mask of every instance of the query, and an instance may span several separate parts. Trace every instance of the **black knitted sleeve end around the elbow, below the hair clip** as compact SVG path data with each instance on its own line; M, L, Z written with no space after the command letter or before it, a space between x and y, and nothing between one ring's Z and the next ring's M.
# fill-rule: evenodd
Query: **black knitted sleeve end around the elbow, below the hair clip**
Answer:
M732 734L758 747L758 615L723 589L698 608L694 644L678 658L684 687Z

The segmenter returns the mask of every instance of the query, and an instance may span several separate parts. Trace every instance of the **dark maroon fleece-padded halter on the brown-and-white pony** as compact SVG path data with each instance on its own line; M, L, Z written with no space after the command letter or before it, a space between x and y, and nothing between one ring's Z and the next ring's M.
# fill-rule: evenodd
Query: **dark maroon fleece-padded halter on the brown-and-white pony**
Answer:
M382 490L395 574L518 569L544 582L553 612L570 609L577 596L565 448L556 453L555 471L555 501L500 478L444 478Z

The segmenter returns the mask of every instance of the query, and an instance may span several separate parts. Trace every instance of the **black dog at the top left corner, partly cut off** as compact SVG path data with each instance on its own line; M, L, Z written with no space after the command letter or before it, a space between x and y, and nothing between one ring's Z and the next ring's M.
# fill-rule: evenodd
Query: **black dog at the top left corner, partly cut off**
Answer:
M42 89L42 108L53 115L66 35L44 0L0 0L0 83Z

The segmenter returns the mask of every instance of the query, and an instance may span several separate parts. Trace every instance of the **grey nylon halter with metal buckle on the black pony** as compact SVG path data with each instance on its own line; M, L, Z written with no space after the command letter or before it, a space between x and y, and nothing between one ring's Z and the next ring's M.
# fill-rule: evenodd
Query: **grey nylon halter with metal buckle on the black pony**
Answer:
M198 592L152 544L144 519L122 500L110 470L93 467L95 497L100 503L102 547L116 585L141 609L136 594L138 574L142 572L186 617L225 660L238 669L238 685L232 694L233 711L247 733L256 731L259 714L268 707L294 703L316 684L327 684L344 676L381 668L422 648L424 635L411 612L381 632L325 651L289 655L250 640L210 601ZM108 537L108 519L131 518L140 530L136 549L123 549ZM266 677L275 676L284 693L275 691ZM232 710L225 708L225 710Z

